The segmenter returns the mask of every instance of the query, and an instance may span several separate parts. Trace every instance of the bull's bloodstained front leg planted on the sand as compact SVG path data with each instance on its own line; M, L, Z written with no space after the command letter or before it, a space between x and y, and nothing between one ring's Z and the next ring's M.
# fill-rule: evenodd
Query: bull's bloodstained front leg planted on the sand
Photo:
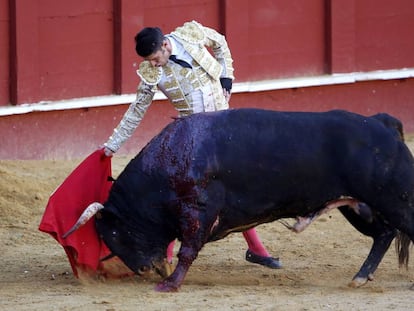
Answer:
M162 282L155 290L159 292L176 292L181 286L188 269L193 261L197 258L198 252L203 247L206 240L205 230L200 222L200 211L193 208L192 205L186 205L182 209L181 230L182 241L181 247L177 254L178 263L174 272Z

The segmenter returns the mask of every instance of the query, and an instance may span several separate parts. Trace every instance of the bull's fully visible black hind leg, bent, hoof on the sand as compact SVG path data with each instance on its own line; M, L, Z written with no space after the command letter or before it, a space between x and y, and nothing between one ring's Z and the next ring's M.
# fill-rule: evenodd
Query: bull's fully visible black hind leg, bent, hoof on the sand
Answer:
M367 205L364 208L369 209ZM347 207L340 207L339 210L358 231L372 237L374 240L367 259L349 283L351 287L360 287L368 281L373 280L374 272L390 247L397 231L387 226L382 219L375 215L368 219L357 215Z

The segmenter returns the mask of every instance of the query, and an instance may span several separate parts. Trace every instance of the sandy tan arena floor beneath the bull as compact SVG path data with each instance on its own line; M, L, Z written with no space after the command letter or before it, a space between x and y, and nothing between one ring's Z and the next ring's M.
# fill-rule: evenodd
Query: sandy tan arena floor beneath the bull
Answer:
M407 144L414 151L414 137ZM129 161L113 160L115 176ZM0 161L0 310L412 310L410 270L398 268L394 247L375 280L347 283L368 254L371 240L337 211L303 233L275 222L258 227L274 256L271 270L244 260L241 234L206 245L178 293L153 290L149 280L79 280L66 255L38 231L51 192L80 161ZM177 243L178 244L178 243Z

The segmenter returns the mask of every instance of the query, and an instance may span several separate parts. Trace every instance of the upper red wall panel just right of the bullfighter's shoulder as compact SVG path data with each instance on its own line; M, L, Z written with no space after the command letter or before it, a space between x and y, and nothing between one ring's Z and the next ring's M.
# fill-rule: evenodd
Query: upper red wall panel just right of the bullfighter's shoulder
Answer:
M228 1L226 35L237 81L325 72L325 1Z

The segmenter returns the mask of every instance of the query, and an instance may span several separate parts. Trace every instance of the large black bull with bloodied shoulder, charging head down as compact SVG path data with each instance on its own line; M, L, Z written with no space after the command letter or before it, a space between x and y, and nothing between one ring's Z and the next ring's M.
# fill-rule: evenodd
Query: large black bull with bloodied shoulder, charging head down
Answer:
M177 119L125 167L96 228L138 274L166 276L166 248L178 238L177 266L157 286L174 291L205 243L281 218L296 218L299 232L332 207L373 238L353 286L372 279L395 237L407 264L414 161L398 120L259 109Z

